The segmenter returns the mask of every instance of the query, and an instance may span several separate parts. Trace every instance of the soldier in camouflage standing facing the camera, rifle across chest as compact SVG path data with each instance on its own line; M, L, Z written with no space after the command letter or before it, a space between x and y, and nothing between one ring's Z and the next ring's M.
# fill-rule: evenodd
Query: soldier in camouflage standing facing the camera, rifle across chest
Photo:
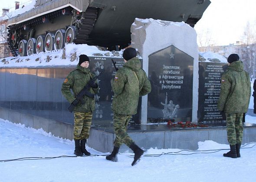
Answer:
M98 92L98 84L91 79L95 77L89 69L89 58L87 55L79 56L79 64L76 69L69 73L66 80L62 84L62 94L69 101L77 102L75 97L85 87L87 83L91 86L89 92L96 94ZM72 89L74 95L71 93ZM86 140L89 138L91 123L92 123L92 112L95 110L95 99L92 97L84 96L85 103L78 103L74 108L74 140L75 140L75 151L76 156L91 155L85 149ZM76 104L76 103L74 103Z

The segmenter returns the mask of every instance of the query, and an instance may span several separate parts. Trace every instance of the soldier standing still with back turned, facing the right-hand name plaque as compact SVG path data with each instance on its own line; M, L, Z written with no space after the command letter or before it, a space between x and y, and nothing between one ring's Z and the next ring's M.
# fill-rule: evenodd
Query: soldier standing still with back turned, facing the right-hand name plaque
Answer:
M221 77L221 91L218 109L226 114L227 139L230 151L224 157L240 157L240 146L243 139L243 113L247 112L251 94L249 74L243 70L243 62L237 54L231 54L230 63Z

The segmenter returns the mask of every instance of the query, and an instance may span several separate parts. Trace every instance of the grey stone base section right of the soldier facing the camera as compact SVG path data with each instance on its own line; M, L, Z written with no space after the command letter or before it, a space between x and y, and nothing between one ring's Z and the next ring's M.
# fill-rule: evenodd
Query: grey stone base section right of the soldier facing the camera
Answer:
M200 125L200 123L196 123ZM197 150L198 142L213 140L217 143L229 144L226 136L226 122L202 123L208 127L181 127L167 123L131 125L128 134L143 149L190 149ZM243 123L243 143L256 141L256 124ZM113 149L115 133L112 125L93 126L88 145L95 150L106 153ZM119 152L132 152L124 144Z

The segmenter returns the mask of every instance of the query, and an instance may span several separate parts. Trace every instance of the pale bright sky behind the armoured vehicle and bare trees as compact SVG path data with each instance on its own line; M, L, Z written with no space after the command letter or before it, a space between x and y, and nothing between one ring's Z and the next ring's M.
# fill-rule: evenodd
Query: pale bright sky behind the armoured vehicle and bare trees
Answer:
M3 7L15 7L17 0L1 0ZM20 0L20 4L31 0ZM211 37L215 45L229 45L240 41L249 21L256 24L256 0L210 0L211 4L195 25L198 36ZM255 30L256 32L256 30Z

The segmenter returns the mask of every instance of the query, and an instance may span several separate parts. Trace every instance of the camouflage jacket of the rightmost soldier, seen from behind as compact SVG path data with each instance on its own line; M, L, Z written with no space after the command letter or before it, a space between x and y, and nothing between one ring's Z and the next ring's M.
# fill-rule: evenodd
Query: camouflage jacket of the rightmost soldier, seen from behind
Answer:
M232 62L221 77L218 109L229 113L246 113L250 94L250 78L243 70L243 62Z

